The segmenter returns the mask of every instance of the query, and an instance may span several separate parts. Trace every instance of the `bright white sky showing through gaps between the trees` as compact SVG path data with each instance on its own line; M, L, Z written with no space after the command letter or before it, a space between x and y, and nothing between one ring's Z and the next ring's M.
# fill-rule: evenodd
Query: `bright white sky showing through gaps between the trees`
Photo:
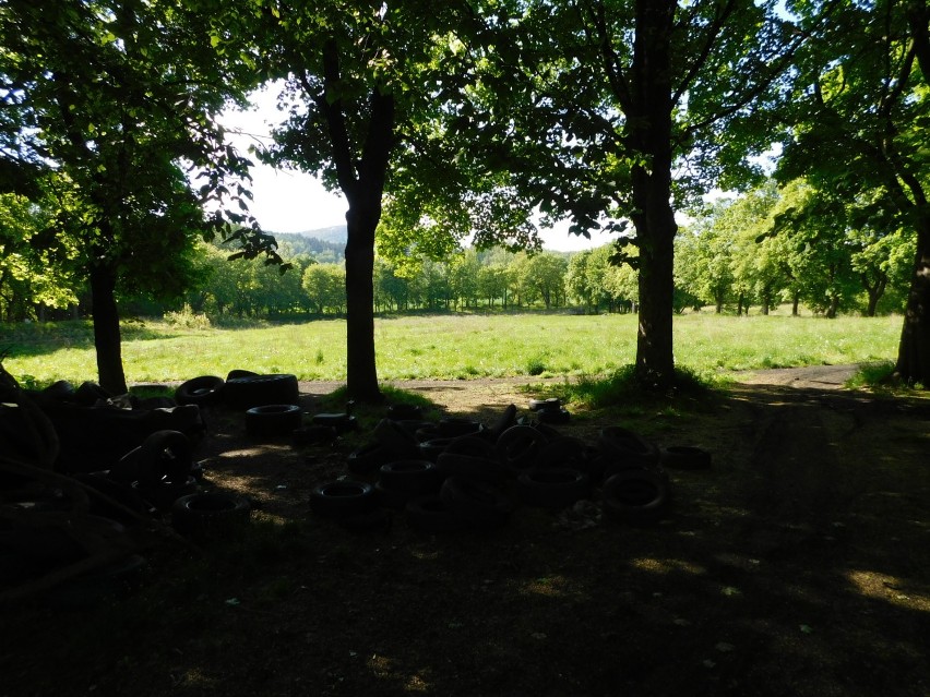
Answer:
M230 135L230 142L241 152L247 152L255 139L267 139L269 122L276 123L282 113L275 108L275 92L263 91L253 97L253 109L227 111L223 124L230 131L242 131L249 135ZM303 232L345 224L346 201L325 190L320 181L297 171L276 170L267 165L255 164L252 168L252 215L270 232ZM570 235L564 223L551 230L542 230L545 248L569 252L600 247L616 236L592 235L587 240Z

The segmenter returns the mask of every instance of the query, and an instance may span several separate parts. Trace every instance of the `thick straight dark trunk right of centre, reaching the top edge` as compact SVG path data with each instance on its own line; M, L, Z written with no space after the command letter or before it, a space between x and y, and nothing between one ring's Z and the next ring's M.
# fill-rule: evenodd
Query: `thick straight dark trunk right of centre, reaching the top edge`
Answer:
M677 3L636 0L631 104L627 146L648 166L632 171L633 207L640 247L640 322L635 373L651 385L675 381L672 353L673 241L671 209L671 32Z

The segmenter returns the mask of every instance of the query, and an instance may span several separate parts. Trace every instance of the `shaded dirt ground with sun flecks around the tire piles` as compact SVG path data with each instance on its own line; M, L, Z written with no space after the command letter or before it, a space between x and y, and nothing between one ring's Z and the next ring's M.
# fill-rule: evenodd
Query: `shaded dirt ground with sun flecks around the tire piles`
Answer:
M425 534L402 512L351 532L308 497L366 434L258 443L241 414L210 410L210 485L248 494L261 534L165 542L111 605L2 609L0 696L928 697L930 400L845 390L851 371L574 412L569 435L623 425L713 454L670 472L672 513L648 528L600 519L595 500L520 507L492 532ZM559 380L395 386L490 423L544 382L558 394ZM335 386L302 383L306 410Z

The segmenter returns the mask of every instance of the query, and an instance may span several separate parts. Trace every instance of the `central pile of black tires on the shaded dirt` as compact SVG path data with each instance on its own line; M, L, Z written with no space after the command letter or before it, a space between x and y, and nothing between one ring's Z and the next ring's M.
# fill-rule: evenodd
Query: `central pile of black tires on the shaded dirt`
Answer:
M451 532L499 528L521 505L561 510L596 501L606 520L649 526L670 510L666 468L711 466L702 448L664 450L619 426L603 429L594 443L563 435L534 406L536 419L517 419L511 405L491 426L425 422L397 407L349 455L347 478L312 491L311 510L353 529L403 510L414 528Z

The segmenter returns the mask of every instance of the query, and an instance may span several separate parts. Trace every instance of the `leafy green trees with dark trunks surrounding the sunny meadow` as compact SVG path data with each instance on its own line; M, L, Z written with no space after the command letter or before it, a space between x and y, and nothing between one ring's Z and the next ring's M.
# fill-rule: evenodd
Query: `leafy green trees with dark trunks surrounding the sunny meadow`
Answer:
M688 305L903 305L897 371L928 382L921 0L60 4L0 2L0 311L90 309L112 392L119 305L182 299L345 312L360 398L380 397L373 311L479 303L635 304L636 371L656 385ZM345 269L332 249L293 250L277 277L198 247L219 233L245 245L233 256L281 261L215 120L272 80L284 120L259 155L342 190ZM775 145L780 190L695 212L762 181L754 156ZM460 249L537 251L534 208L625 237L571 260Z

